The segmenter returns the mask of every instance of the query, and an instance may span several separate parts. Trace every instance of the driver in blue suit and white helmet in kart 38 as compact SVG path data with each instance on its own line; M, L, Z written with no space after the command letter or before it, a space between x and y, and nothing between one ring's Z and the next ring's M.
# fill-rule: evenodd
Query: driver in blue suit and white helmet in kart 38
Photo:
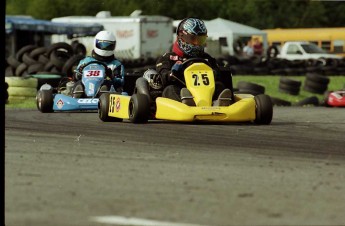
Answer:
M123 91L125 68L114 55L115 47L116 38L112 32L100 31L97 33L94 39L91 56L82 59L76 68L75 79L77 82L74 85L74 89L76 89L78 85L81 86L80 75L83 66L91 61L100 61L108 65L107 75L110 78L110 80L104 81L101 89L110 90L111 85L113 85L117 92ZM82 94L77 93L74 95L76 95L74 97L79 98Z

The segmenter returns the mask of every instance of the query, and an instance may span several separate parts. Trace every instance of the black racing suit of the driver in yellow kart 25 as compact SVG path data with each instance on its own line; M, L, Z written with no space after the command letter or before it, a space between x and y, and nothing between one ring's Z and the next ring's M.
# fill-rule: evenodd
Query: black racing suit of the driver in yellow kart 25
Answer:
M181 57L177 55L175 52L168 52L157 59L156 71L161 75L162 80L163 80L162 81L163 87L164 87L163 93L162 93L163 97L181 101L180 90L182 87L184 87L184 85L180 81L172 79L172 77L170 76L171 68L177 61L184 62L190 58L191 57ZM206 59L210 63L210 66L214 71L215 80L216 80L216 89L213 95L213 99L216 99L219 93L225 88L225 86L220 81L218 81L218 78L217 78L220 72L219 72L219 67L217 65L216 59L211 57L207 53L204 53L199 58ZM177 75L177 77L181 79L183 78L183 75Z

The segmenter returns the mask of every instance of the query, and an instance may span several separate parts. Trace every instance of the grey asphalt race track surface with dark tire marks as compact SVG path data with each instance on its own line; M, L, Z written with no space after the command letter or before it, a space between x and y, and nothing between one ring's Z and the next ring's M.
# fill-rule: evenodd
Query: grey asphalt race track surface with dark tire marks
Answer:
M5 112L5 225L344 225L345 109L271 125Z

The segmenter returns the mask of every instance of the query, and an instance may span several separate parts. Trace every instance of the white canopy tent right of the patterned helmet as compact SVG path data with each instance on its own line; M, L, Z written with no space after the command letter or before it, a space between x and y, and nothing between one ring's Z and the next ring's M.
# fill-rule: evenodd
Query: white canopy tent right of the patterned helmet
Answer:
M173 25L177 27L181 20L175 20ZM261 36L264 49L267 49L267 33L265 31L236 23L230 20L225 20L222 18L216 18L213 20L204 20L207 35L212 41L226 40L226 47L222 47L225 52L228 52L230 55L234 55L234 45L237 44L237 41L242 41L241 39L249 39L252 36ZM224 42L224 41L223 41ZM223 43L224 44L224 43ZM245 44L245 43L243 43Z

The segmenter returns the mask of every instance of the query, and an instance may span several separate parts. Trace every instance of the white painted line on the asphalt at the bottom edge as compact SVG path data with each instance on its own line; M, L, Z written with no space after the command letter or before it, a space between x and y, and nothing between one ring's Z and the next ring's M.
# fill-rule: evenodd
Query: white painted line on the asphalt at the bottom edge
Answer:
M155 221L134 217L123 216L98 216L92 217L92 221L113 225L139 225L139 226L202 226L200 224L174 223L165 221Z

